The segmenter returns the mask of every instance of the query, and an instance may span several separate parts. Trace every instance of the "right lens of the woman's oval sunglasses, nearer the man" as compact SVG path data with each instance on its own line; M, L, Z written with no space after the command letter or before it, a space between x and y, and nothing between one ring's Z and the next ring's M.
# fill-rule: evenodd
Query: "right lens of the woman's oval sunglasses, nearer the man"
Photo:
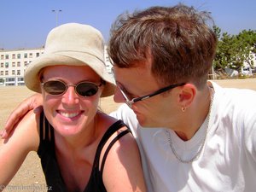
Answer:
M94 96L98 91L96 84L80 83L76 87L76 91L80 96Z

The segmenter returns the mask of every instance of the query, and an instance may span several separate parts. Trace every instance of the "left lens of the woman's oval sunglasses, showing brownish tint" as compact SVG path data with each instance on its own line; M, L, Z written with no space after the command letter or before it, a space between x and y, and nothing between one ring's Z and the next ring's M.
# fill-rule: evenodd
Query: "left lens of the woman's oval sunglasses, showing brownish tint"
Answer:
M66 90L66 85L61 81L48 81L44 83L44 90L50 95L61 95Z

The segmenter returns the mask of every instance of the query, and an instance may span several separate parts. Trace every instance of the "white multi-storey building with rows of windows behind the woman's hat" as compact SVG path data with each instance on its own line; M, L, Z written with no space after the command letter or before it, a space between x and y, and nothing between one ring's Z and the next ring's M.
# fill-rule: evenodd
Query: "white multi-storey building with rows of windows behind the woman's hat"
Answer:
M38 49L0 49L0 85L24 85L24 71L29 63L44 53L44 48ZM105 46L105 63L111 74L112 64L109 61L107 46Z

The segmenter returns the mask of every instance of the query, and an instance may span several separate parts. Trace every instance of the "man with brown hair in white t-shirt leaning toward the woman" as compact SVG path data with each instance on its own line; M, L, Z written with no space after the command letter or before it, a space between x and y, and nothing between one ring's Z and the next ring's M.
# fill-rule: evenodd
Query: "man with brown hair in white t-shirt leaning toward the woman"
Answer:
M113 26L114 101L127 105L112 115L131 127L155 192L256 187L256 92L207 81L218 41L208 19L178 4L121 15ZM35 105L22 104L10 121Z

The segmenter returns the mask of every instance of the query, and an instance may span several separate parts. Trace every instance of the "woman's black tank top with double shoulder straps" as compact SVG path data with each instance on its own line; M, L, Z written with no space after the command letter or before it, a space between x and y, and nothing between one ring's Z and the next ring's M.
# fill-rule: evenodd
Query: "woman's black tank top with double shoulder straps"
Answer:
M123 121L118 120L108 128L108 131L106 131L104 136L102 137L102 140L96 149L96 155L90 173L90 179L84 189L84 192L107 192L102 180L102 172L108 152L113 144L119 140L119 138L125 136L125 134L131 131L129 129L122 131L117 137L113 139L113 141L108 145L105 154L103 155L101 166L99 165L100 155L102 153L102 148L108 141L108 138L111 137L114 132L118 131L119 128L123 126L126 126ZM61 171L55 157L54 129L45 118L44 113L41 113L40 115L40 144L38 148L38 156L41 159L41 165L44 171L48 191L67 191L66 184L61 177Z

